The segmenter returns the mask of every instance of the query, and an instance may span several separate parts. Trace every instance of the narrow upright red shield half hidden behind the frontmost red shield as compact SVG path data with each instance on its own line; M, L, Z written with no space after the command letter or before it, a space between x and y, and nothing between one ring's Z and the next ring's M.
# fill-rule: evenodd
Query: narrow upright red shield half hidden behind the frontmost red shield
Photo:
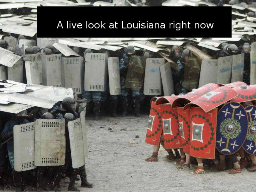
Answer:
M179 131L182 142L182 148L189 154L190 150L190 109L184 110L183 107L177 107Z

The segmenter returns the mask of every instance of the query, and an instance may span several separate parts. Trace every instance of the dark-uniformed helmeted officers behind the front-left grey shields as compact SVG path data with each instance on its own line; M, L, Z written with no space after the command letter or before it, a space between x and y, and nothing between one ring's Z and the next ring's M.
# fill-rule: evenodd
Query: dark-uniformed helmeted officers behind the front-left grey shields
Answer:
M74 96L76 96L74 94ZM4 190L11 185L17 192L28 190L60 191L61 178L70 179L68 190L80 191L75 186L76 180L81 180L81 187L91 188L93 185L87 181L85 166L72 168L68 122L80 117L82 106L73 98L64 98L50 110L46 108L30 108L18 114L1 113L0 124L0 187ZM65 119L66 126L66 156L63 166L38 166L36 169L17 172L14 169L14 140L13 128L15 125L34 122L36 119ZM80 178L79 178L79 176ZM13 178L10 179L10 178Z

